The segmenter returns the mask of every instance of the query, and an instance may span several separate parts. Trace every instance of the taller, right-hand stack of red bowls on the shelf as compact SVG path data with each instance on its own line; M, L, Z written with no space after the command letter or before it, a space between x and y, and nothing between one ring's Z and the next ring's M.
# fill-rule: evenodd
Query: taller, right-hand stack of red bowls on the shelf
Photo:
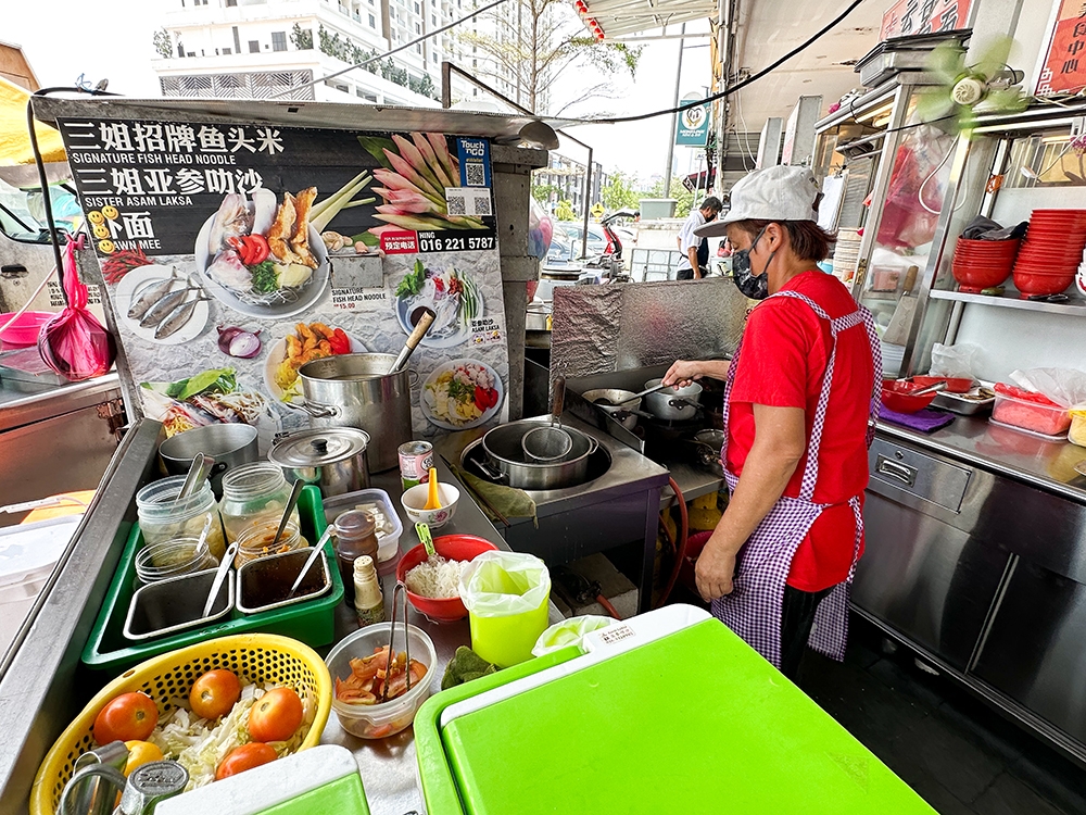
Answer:
M1034 210L1014 263L1022 297L1058 294L1075 279L1086 249L1086 210Z

